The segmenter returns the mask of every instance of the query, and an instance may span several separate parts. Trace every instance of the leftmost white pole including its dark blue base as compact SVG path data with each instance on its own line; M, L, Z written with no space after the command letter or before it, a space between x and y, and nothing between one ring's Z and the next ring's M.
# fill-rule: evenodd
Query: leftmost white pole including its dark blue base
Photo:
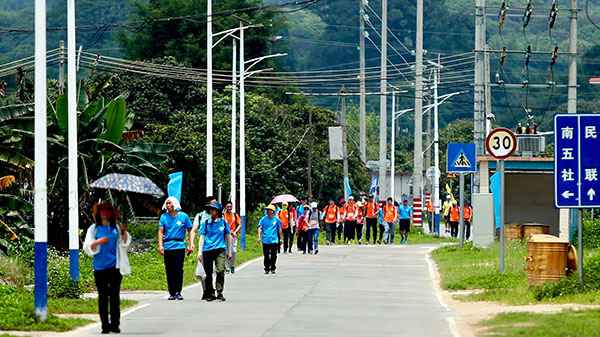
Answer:
M48 147L46 83L46 0L35 0L35 121L34 121L34 306L35 316L45 321L48 314Z

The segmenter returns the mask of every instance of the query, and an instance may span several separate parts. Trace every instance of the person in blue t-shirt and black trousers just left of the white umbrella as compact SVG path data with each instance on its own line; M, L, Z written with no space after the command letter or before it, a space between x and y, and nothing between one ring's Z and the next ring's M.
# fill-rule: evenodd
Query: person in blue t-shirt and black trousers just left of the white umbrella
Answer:
M265 208L267 215L258 222L258 237L263 245L265 274L275 274L277 262L277 249L283 236L281 221L275 216L275 206Z

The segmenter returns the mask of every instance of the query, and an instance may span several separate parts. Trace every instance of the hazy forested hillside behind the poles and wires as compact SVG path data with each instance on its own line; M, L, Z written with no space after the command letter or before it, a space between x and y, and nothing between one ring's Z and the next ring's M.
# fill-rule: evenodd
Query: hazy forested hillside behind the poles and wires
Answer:
M287 4L288 0L266 0L268 4ZM388 21L392 34L389 36L388 55L390 61L402 65L412 62L414 57L410 50L414 48L415 38L415 1L388 1ZM506 1L511 9L502 31L499 29L497 13L503 1L488 0L488 43L490 48L524 50L531 45L533 50L550 52L555 46L559 51L567 51L569 28L569 1L558 1L559 15L552 32L548 31L547 17L550 12L550 0L534 0L534 15L526 29L522 28L522 8L526 1ZM106 55L135 58L154 58L161 56L180 57L180 61L196 65L203 64L201 40L204 36L202 22L179 25L172 31L164 26L131 26L119 27L119 23L128 20L139 20L140 17L197 15L205 13L205 0L77 0L78 44L85 49L98 51ZM243 8L249 5L260 5L260 0L219 0L214 1L215 10L223 8ZM144 7L144 5L148 5ZM426 57L434 58L438 53L443 56L470 52L474 46L474 2L472 0L425 0L424 45L428 53ZM582 85L580 99L582 108L591 109L595 95L591 88L585 86L588 76L600 73L600 29L594 27L585 11L588 1L579 1L579 38L580 52L579 83ZM140 16L140 9L143 9ZM380 32L380 0L368 2L366 14L369 17L366 44L367 66L379 66L379 32ZM144 12L145 11L145 12ZM589 1L589 13L592 19L600 22L600 0ZM58 46L60 39L65 39L65 32L56 27L65 25L66 0L48 0L48 25L50 27L48 47ZM264 50L287 52L289 56L277 65L280 69L307 71L325 69L350 69L358 66L358 23L359 0L321 0L307 6L303 10L286 11L285 8L273 11L267 21L274 22L271 33L281 35L283 39L268 45L263 43L255 49L258 53ZM218 17L215 20L224 25L235 23L235 19ZM33 1L3 0L0 2L0 63L9 62L32 55L33 51ZM117 24L116 27L114 24ZM195 24L190 28L190 25ZM109 26L110 25L110 26ZM23 28L25 31L7 32L5 28ZM220 28L220 27L219 27ZM141 31L141 34L139 32ZM154 39L171 39L180 37L180 44L162 44L166 48L152 48ZM195 35L188 39L188 35ZM263 32L264 35L264 32ZM123 38L123 36L129 37ZM147 38L146 40L140 38ZM265 36L262 36L264 39ZM150 39L150 40L148 40ZM264 42L264 41L263 41ZM144 44L145 43L145 44ZM189 44L186 44L189 43ZM169 50L171 48L171 50ZM185 49L185 50L182 50ZM223 49L223 50L221 50ZM251 48L249 53L253 53ZM189 51L189 53L188 53ZM220 54L219 54L220 53ZM228 66L230 52L219 48L216 66ZM524 56L508 55L506 62L500 66L498 55L492 55L491 73L507 83L547 83L552 80L558 84L566 83L568 58L559 55L550 72L550 55L534 55L529 69L524 69ZM465 72L466 73L466 72ZM466 73L468 74L468 73ZM461 87L448 90L472 90L470 85L462 83ZM332 84L333 87L333 84ZM331 89L331 88L330 88ZM334 89L335 90L335 89ZM493 92L493 108L497 112L499 123L511 126L523 121L525 107L531 109L539 122L545 124L548 115L563 109L565 90L545 88L536 90L497 89ZM370 110L377 110L378 99L369 98ZM587 103L586 103L587 101ZM322 100L320 103L336 107L337 99ZM354 104L354 100L352 101ZM401 105L412 105L410 99L403 100ZM462 95L453 100L449 113L442 117L443 122L456 118L471 116L472 94Z

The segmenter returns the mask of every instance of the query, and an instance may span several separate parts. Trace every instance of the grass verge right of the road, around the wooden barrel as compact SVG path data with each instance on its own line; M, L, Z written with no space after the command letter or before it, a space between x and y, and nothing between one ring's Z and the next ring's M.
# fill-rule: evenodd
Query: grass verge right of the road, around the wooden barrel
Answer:
M588 255L593 255L588 251ZM437 263L441 286L447 290L477 290L473 294L455 296L462 301L494 301L510 305L538 303L580 303L600 304L600 291L573 291L536 298L539 288L530 287L527 282L526 243L508 241L506 246L505 273L498 271L499 246L476 248L467 244L464 248L456 245L442 247L432 253Z

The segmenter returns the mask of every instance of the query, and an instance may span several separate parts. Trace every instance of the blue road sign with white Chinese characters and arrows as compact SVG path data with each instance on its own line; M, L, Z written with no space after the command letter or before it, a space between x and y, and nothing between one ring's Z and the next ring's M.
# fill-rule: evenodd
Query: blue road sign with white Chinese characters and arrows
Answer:
M554 144L556 207L600 207L600 115L556 115Z

